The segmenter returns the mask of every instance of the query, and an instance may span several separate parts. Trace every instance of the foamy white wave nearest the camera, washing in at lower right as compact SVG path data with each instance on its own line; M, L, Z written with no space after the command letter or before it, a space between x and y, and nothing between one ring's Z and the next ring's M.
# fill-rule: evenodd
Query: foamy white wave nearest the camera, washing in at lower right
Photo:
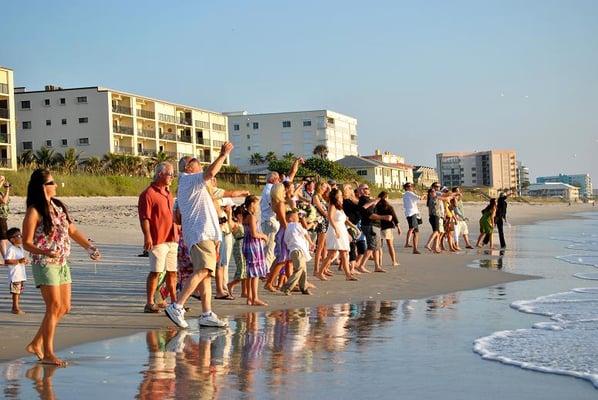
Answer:
M511 307L551 321L479 338L476 353L524 369L587 379L598 388L598 287L516 301Z

